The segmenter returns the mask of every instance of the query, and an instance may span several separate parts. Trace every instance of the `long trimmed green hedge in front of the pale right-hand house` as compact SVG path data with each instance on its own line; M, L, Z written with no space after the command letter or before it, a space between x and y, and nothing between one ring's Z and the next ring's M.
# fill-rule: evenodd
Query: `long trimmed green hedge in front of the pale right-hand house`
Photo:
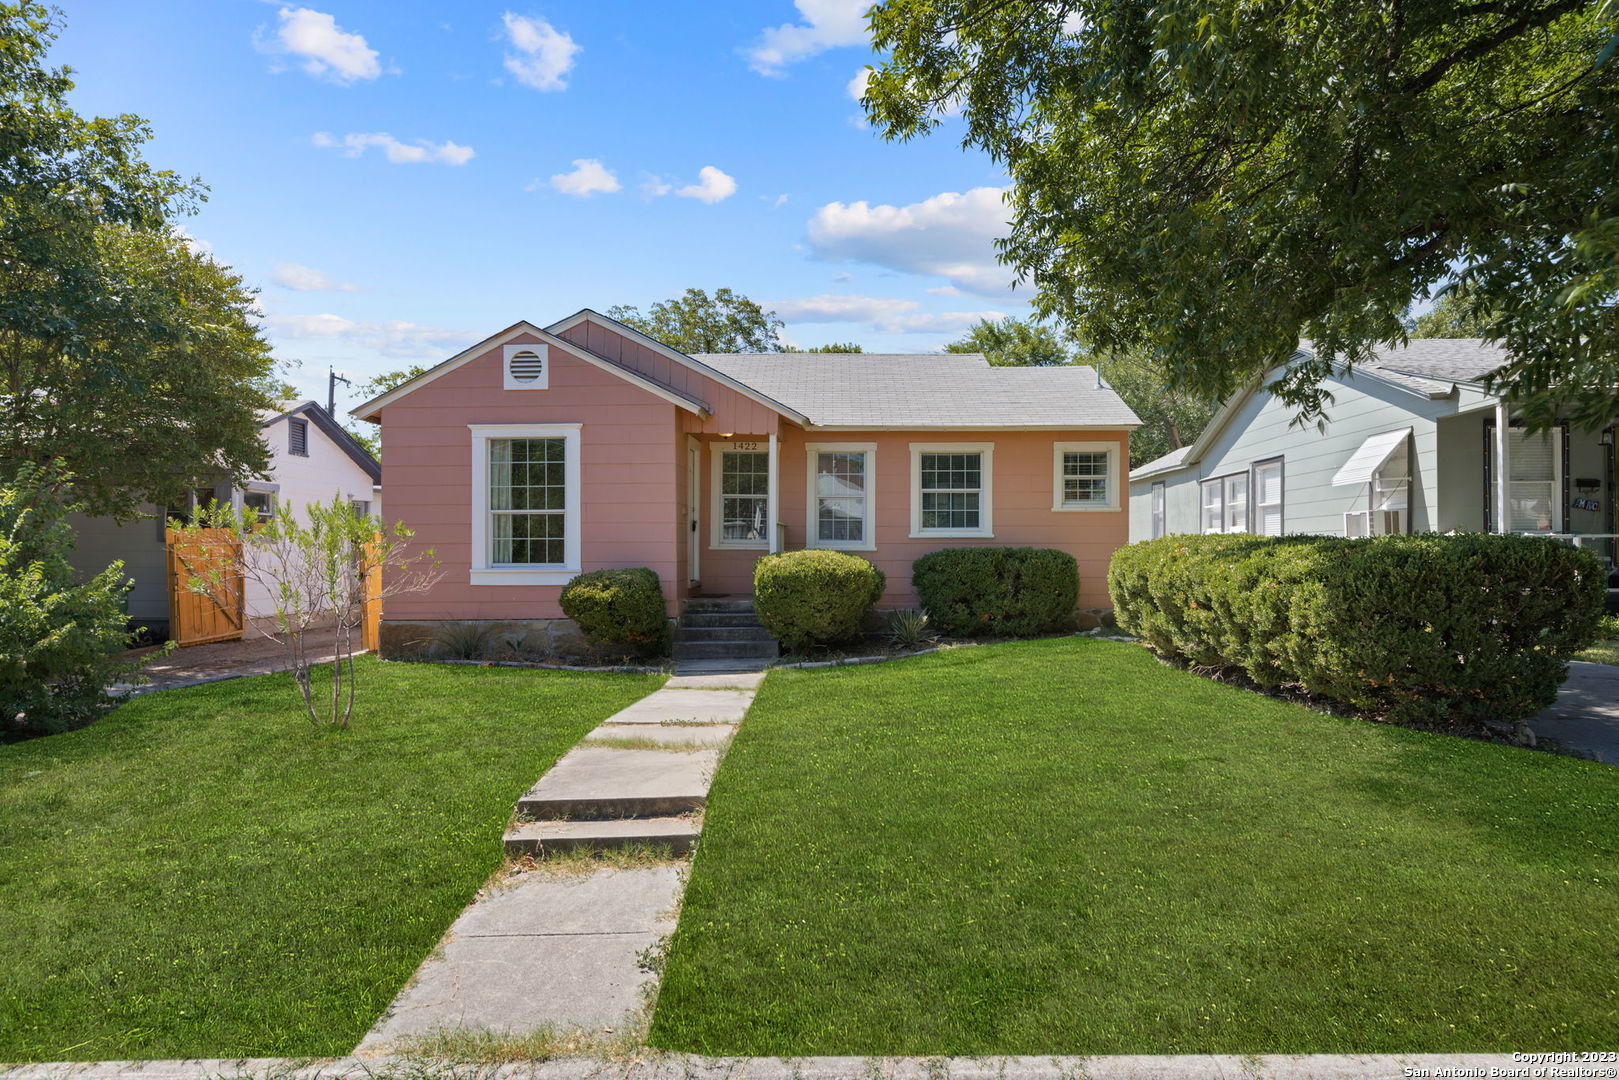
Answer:
M1107 570L1119 625L1161 656L1407 724L1549 706L1603 586L1588 551L1496 534L1166 536Z

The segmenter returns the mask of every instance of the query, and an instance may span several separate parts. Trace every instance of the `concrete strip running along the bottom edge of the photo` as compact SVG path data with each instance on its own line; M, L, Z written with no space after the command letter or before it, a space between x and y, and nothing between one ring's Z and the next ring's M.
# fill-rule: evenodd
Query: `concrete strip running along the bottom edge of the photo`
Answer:
M1491 1069L1498 1072L1491 1074ZM1514 1072L1522 1069L1523 1072ZM1540 1072L1535 1072L1540 1069ZM630 1061L560 1057L510 1065L342 1057L309 1062L108 1061L0 1067L0 1080L1396 1080L1402 1077L1588 1075L1608 1064L1532 1064L1512 1054L1183 1054L1174 1057L696 1057L646 1051Z

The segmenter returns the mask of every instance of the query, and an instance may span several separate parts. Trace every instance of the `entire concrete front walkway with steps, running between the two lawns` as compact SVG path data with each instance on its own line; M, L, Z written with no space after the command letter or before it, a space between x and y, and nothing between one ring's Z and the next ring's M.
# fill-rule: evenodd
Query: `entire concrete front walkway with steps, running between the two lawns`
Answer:
M719 755L763 680L677 677L609 717L518 800L507 852L690 850ZM656 989L644 957L675 928L683 870L651 857L567 876L541 861L486 889L356 1054L434 1030L638 1031Z

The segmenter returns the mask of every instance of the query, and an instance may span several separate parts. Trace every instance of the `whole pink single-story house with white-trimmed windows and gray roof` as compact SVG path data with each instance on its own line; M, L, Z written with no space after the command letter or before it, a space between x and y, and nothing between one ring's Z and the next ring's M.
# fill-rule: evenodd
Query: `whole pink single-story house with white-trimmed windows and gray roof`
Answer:
M385 653L466 620L565 653L559 596L583 570L651 567L674 617L748 597L754 560L797 547L873 560L879 607L916 606L911 562L929 551L1059 547L1098 615L1128 539L1138 419L1081 366L686 356L586 309L507 327L355 415L382 424L389 517L445 568L389 601Z

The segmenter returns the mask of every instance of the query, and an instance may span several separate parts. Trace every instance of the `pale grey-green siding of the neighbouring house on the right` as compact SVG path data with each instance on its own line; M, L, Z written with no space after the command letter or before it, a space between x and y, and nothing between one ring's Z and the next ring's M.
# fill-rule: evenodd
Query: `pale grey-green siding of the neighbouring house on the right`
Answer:
M1370 436L1412 429L1410 508L1412 531L1444 528L1439 504L1439 419L1455 411L1455 402L1431 400L1370 376L1328 381L1332 403L1328 419L1295 424L1297 410L1266 390L1256 390L1216 436L1203 457L1182 470L1130 484L1130 539L1151 538L1153 481L1164 483L1166 533L1200 533L1200 484L1205 479L1250 470L1258 461L1282 458L1282 531L1344 534L1344 513L1366 508L1365 486L1332 484L1332 474Z

